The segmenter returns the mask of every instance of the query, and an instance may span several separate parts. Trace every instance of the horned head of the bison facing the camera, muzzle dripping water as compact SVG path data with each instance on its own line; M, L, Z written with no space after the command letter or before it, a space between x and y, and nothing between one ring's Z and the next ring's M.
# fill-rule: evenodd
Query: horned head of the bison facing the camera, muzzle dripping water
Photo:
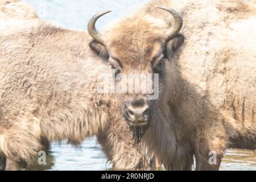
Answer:
M171 25L171 22L150 14L137 13L101 34L96 30L95 23L110 11L94 15L88 23L88 31L93 38L90 48L109 61L115 74L123 73L129 77L130 74L151 73L151 84L155 83L155 73L158 74L158 99L150 100L148 96L154 94L150 92L127 93L119 97L123 118L133 127L148 126L153 118L154 107L158 105L168 84L168 63L174 57L176 48L183 43L183 36L178 35L183 24L181 16L170 8L156 8L174 16L174 23Z

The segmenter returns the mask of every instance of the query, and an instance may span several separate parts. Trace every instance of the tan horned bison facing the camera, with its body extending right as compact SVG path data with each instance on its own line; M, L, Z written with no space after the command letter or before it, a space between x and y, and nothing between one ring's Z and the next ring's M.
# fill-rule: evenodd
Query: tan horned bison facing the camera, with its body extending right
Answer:
M195 156L197 170L215 170L226 148L256 149L255 5L152 1L102 34L95 23L109 12L90 20L90 48L117 75L159 74L157 100L142 92L115 97L166 169L191 170Z

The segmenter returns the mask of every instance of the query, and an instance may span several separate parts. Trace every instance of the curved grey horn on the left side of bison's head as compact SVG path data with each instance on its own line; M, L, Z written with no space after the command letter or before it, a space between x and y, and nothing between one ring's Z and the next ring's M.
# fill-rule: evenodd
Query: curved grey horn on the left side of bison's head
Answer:
M102 11L102 12L100 12L100 13L97 13L96 15L94 15L94 16L89 20L88 25L87 25L87 30L88 30L90 36L92 36L92 38L93 38L94 40L96 40L98 43L101 43L102 45L105 45L104 39L103 39L102 34L96 30L95 23L97 22L97 20L98 20L101 16L103 16L103 15L105 15L105 14L107 14L107 13L110 13L110 12L111 12L111 11L108 10L108 11Z

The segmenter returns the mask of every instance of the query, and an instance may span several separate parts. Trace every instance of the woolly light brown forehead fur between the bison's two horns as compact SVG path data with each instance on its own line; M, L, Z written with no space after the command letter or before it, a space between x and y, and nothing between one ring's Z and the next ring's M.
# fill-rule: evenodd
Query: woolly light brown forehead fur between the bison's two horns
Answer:
M168 25L147 14L136 14L115 23L105 33L106 46L121 61L143 61L165 42Z

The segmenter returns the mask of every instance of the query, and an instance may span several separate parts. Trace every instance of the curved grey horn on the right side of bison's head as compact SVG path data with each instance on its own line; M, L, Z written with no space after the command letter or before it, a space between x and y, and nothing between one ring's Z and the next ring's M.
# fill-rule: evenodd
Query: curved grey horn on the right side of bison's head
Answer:
M170 30L167 31L167 41L171 40L175 35L177 35L182 27L183 24L183 20L181 18L181 16L179 15L179 13L177 13L177 11L175 11L174 9L171 8L167 8L167 7L163 7L163 6L155 6L158 9L162 9L167 11L168 13L171 13L172 16L174 16L174 25L171 27Z

